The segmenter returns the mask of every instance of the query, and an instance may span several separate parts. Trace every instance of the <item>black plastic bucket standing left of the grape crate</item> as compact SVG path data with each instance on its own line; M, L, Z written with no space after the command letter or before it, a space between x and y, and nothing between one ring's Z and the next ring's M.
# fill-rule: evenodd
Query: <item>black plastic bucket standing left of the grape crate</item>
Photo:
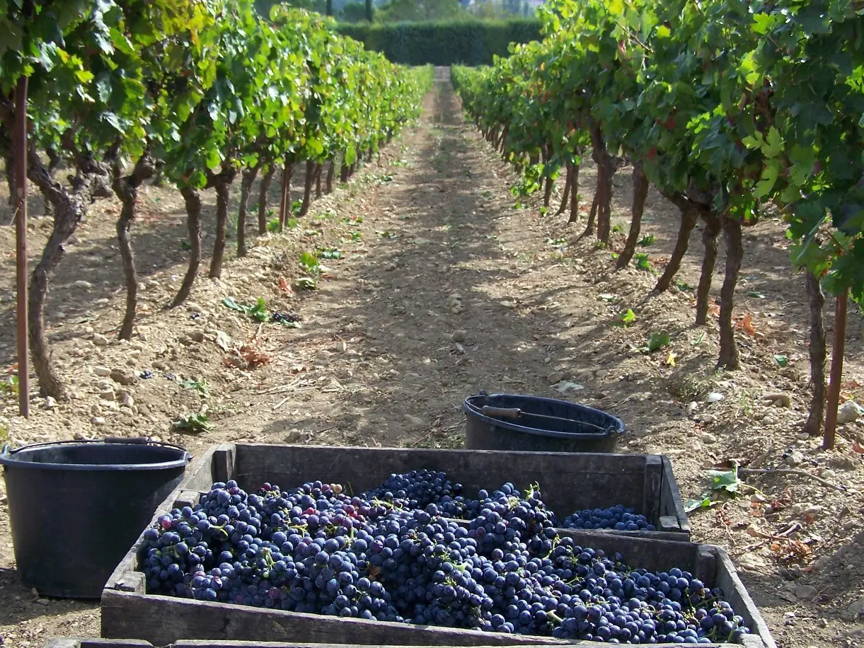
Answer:
M3 448L18 575L40 594L98 599L192 455L147 439Z

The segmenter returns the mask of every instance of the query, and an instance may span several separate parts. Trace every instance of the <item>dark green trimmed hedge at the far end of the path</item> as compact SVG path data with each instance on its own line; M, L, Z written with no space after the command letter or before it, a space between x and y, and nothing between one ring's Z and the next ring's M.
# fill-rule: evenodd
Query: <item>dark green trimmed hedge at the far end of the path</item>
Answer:
M507 56L511 42L540 40L540 21L340 23L340 34L361 41L393 61L412 66L491 65L492 56Z

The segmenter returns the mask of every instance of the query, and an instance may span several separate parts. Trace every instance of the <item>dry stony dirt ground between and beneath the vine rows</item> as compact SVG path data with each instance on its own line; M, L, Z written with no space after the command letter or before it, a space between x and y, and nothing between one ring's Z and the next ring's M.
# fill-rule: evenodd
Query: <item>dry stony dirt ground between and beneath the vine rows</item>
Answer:
M753 232L749 267L757 270L740 288L740 312L755 313L759 335L741 333L743 371L715 374L715 323L691 326L693 297L685 285L696 283L699 233L683 283L648 299L650 272L613 274L608 251L573 242L580 227L566 226L562 217L540 218L534 202L513 208L511 170L464 124L446 71L440 76L421 124L385 149L378 163L317 200L287 235L257 239L250 257L232 260L221 280L200 278L193 302L175 311L161 307L185 263L182 246L173 243L182 237L181 201L168 188L147 187L135 233L146 289L130 344L93 341L97 334L112 337L123 305L112 243L117 208L100 203L63 261L48 308L55 359L75 398L48 409L36 399L35 416L22 422L11 416L14 397L4 397L10 441L156 435L193 452L224 441L459 447L461 401L480 389L578 400L626 421L623 451L670 454L685 498L702 491L704 469L719 461L766 454L769 467L793 452L801 456L800 467L816 466L826 480L850 489L826 490L794 476L748 480L766 492L766 502L751 502L747 492L697 514L692 524L696 539L727 546L740 563L783 648L860 642L862 626L848 617L864 594L864 471L851 449L860 428L848 425L835 453L819 453L816 442L797 438L807 399L806 322L799 319L800 280L781 270L788 261L778 224ZM588 205L591 173L586 169L582 186ZM624 223L626 175L616 178L616 191L615 222ZM647 249L651 264L662 264L671 248L670 214L652 194L644 226L656 238ZM39 223L31 249L44 238ZM0 234L0 244L12 249L12 232ZM327 269L319 288L286 289L301 274L300 253L316 248L340 250L340 258L322 260ZM9 277L4 285L12 286L10 259L0 265ZM257 327L222 306L228 295L247 303L264 297L274 308L300 314L302 328ZM2 296L0 351L11 357L13 306L8 290ZM613 316L625 308L637 321L614 326ZM675 359L668 350L638 352L661 329L670 334ZM854 359L860 336L850 337L848 379L864 382ZM232 356L218 341L254 346L267 363L228 366ZM784 369L773 359L781 353L789 360ZM127 388L100 385L100 367L148 370L153 378ZM206 397L183 383L202 379ZM116 393L106 399L109 387ZM707 404L708 391L724 399ZM772 391L787 394L791 407L764 402ZM134 405L124 404L125 395ZM688 409L691 401L695 410ZM182 435L171 429L177 416L205 408L213 430ZM766 505L772 505L767 514ZM776 530L789 519L802 524L791 536L800 555L791 544L775 549L747 533L750 524ZM17 584L4 497L0 535L6 645L98 635L97 605L41 599ZM812 569L818 556L825 557ZM814 589L796 589L801 584Z

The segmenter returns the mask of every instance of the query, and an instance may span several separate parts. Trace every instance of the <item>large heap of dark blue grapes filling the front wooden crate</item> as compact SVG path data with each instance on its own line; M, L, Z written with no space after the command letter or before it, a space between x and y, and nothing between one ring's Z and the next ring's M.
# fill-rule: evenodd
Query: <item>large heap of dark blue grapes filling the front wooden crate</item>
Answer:
M426 470L359 496L321 481L254 493L219 482L145 532L148 591L613 644L749 632L721 591L688 572L630 569L623 556L558 537L536 485L477 499L461 490Z

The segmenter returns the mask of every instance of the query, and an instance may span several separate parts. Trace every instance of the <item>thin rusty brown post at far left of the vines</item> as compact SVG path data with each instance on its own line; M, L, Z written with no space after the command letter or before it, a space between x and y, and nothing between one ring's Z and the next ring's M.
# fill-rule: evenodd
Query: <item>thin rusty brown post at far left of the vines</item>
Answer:
M15 92L15 238L18 336L18 413L30 416L27 328L27 81L18 79Z

